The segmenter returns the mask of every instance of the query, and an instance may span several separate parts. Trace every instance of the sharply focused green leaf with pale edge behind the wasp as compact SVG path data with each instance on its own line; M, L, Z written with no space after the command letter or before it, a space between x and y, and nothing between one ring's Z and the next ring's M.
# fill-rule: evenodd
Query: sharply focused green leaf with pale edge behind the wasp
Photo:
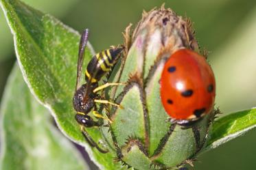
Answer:
M10 29L23 77L32 93L56 119L58 128L72 141L84 145L90 158L101 169L120 169L114 163L115 152L101 154L91 149L74 119L72 106L75 90L78 43L80 35L59 20L34 10L18 0L1 0ZM89 50L90 49L90 50ZM91 59L93 50L86 48L84 66ZM91 137L102 141L99 128L87 128Z

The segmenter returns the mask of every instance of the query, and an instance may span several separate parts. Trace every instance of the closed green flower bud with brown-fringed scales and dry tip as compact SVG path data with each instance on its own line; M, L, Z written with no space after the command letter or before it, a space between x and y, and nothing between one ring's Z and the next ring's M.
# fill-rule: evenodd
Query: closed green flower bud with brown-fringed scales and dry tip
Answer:
M131 34L128 27L124 34L126 53L110 80L128 85L109 91L110 98L124 107L110 111L108 143L114 143L117 160L135 169L176 168L192 162L205 143L213 116L188 128L171 123L159 84L172 53L182 48L200 53L191 22L161 7L143 12L135 31Z

